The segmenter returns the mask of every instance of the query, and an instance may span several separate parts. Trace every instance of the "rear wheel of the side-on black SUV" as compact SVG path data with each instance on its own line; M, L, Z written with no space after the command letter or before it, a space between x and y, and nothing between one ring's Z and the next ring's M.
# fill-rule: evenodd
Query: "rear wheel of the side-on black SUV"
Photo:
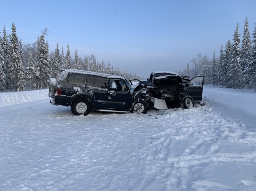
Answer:
M76 99L71 104L71 111L74 115L88 115L91 104L86 99Z

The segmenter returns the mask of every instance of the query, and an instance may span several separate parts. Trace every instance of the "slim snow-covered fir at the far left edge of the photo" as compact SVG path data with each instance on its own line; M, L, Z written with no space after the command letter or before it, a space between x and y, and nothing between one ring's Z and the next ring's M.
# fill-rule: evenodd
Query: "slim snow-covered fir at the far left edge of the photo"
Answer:
M10 43L8 41L7 33L5 26L3 27L3 37L1 40L0 46L2 47L3 50L3 60L4 60L4 65L3 65L3 70L5 73L5 89L11 89L11 84L10 84L10 64L9 64L9 47Z

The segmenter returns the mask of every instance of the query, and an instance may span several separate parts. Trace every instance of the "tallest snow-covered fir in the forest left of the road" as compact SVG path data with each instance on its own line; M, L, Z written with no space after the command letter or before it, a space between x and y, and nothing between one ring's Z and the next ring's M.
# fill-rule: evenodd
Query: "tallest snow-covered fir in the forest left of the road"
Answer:
M10 55L10 82L11 87L17 91L18 88L18 73L20 70L20 56L19 56L19 45L18 45L18 37L16 35L16 26L12 24L12 34L10 36L10 47L9 47L9 55Z

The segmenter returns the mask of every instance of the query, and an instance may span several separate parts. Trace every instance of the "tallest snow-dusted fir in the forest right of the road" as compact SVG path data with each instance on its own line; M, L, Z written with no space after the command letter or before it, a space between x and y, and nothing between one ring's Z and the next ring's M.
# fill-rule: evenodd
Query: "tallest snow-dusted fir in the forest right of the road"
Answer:
M241 69L243 71L243 82L246 84L246 87L250 84L250 75L248 74L248 67L252 61L252 46L251 46L251 36L248 28L248 19L244 25L243 31L243 40L241 47Z

